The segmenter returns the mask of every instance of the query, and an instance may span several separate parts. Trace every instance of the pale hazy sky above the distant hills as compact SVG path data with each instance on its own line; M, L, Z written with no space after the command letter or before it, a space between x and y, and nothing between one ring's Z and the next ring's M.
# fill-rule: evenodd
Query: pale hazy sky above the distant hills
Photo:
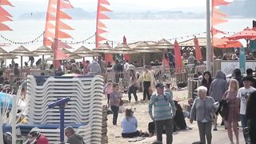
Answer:
M48 0L15 0L15 2L28 2L26 5L47 6ZM87 11L95 11L98 0L70 0L75 7L82 7ZM178 10L178 8L204 7L206 0L109 0L110 9L116 12L142 12L154 10ZM203 11L203 10L202 10Z

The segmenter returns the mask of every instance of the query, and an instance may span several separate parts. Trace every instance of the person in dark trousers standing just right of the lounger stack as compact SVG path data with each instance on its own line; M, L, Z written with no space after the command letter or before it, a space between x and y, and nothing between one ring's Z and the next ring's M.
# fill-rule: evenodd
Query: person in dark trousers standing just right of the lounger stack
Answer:
M110 108L113 111L113 125L117 125L118 110L119 110L121 98L122 98L122 93L120 92L119 85L117 83L114 83L113 91L110 94Z

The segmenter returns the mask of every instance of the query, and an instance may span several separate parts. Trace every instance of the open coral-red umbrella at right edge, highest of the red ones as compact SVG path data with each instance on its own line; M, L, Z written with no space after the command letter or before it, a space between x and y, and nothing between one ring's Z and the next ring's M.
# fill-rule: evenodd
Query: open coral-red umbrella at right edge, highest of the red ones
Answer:
M249 40L255 39L255 38L256 38L256 31L250 29L249 27L229 37L230 40L246 39L247 48L249 47Z

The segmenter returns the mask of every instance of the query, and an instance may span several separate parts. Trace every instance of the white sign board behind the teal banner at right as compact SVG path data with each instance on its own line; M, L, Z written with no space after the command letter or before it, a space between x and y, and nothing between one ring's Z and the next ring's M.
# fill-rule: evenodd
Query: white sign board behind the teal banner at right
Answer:
M246 61L246 69L255 70L256 61ZM224 74L232 74L234 69L240 69L239 61L222 61L221 62L221 70Z

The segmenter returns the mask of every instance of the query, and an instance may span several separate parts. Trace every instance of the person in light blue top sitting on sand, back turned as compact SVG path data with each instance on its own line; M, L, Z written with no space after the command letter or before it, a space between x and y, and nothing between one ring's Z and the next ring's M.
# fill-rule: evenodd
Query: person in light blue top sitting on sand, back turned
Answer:
M140 135L137 130L138 122L134 117L134 112L131 109L126 109L126 116L122 118L122 138L134 138Z

